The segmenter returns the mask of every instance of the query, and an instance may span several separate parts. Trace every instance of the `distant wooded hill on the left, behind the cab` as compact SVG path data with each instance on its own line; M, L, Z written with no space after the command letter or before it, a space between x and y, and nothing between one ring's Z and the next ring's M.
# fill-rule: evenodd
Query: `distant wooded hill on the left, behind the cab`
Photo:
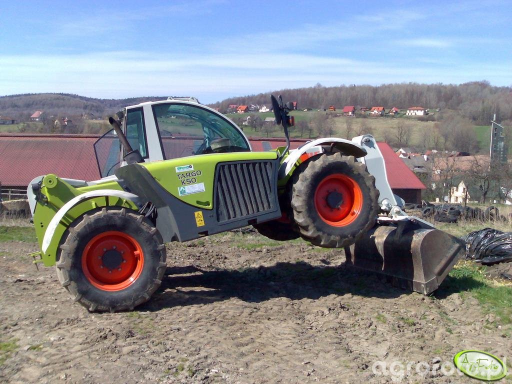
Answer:
M0 115L27 121L36 110L54 115L93 114L108 116L126 105L144 101L165 100L167 97L132 97L127 99L95 99L67 93L36 93L0 97Z

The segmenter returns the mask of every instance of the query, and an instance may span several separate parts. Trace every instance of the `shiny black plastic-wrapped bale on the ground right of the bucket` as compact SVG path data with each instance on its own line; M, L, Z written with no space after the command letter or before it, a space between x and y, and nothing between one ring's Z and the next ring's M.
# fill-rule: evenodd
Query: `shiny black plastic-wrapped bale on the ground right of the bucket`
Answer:
M512 232L485 228L466 236L466 257L482 264L512 261Z

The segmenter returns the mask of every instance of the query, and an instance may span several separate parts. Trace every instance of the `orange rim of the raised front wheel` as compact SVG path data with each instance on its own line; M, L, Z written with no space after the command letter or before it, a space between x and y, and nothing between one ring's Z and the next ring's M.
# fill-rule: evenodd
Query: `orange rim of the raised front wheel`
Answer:
M347 226L357 219L362 200L359 185L343 174L325 177L316 187L314 196L318 216L335 227Z

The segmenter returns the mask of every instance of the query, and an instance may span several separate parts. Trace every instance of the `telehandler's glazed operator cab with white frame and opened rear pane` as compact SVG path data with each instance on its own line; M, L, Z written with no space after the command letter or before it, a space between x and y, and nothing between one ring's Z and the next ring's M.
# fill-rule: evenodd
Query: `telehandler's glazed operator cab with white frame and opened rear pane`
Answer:
M130 146L145 162L251 151L247 137L234 122L197 102L145 102L126 107L118 117ZM122 159L128 152L114 129L96 141L94 151L101 177L113 175L124 165Z

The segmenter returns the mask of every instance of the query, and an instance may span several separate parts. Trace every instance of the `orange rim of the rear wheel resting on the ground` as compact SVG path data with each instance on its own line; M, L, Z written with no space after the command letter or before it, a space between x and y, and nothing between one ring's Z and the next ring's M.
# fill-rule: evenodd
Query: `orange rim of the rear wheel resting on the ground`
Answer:
M82 253L87 280L104 291L120 291L132 285L144 266L139 243L129 234L107 231L92 238Z

